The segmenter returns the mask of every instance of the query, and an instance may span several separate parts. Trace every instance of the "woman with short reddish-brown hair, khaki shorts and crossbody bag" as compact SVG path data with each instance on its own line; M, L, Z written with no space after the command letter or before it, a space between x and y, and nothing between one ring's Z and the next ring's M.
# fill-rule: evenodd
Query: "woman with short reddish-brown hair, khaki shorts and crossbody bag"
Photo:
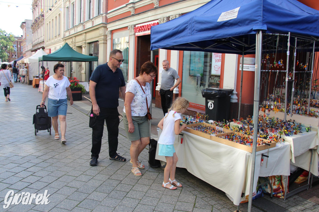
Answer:
M138 156L150 143L150 125L145 115L147 106L151 106L152 101L150 82L156 74L156 66L151 61L145 62L141 66L139 76L126 85L123 120L125 131L132 143L130 147L130 163L133 164L131 171L136 176L141 176L139 169L145 168L138 160Z

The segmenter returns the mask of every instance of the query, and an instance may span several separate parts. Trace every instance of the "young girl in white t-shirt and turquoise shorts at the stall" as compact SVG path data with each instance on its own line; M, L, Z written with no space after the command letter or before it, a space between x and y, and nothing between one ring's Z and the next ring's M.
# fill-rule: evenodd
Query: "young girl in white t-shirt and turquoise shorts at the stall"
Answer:
M165 156L166 167L164 169L164 181L162 187L175 190L182 187L182 184L175 180L175 170L178 158L174 149L175 135L180 134L186 124L180 127L181 113L185 112L189 106L189 101L183 97L177 98L166 116L157 125L162 133L159 136L159 155Z

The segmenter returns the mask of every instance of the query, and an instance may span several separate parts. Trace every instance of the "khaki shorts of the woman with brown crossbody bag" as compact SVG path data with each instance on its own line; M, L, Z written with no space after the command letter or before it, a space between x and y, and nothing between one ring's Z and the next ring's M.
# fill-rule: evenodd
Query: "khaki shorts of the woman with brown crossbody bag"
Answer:
M127 138L130 141L136 141L140 138L150 137L150 124L146 116L132 116L134 125L134 132L129 132L129 122L127 121L126 114L123 113L124 128L127 133Z

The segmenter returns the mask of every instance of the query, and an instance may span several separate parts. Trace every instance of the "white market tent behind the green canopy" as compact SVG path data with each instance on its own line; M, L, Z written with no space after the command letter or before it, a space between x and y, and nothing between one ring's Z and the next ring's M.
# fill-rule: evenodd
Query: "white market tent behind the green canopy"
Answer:
M24 59L25 63L29 64L29 76L32 75L39 75L39 71L41 72L41 66L42 63L39 63L39 57L42 57L43 55L47 55L42 49L39 49L36 53L34 53L32 56ZM54 74L53 67L57 62L50 61L50 62L44 62L44 67L49 67L50 70L50 76Z

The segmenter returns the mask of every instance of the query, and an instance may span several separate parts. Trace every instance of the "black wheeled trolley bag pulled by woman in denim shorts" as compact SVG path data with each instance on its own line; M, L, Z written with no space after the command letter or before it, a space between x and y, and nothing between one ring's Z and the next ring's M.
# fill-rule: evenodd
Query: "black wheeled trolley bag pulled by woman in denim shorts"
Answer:
M51 135L51 117L48 116L48 110L45 105L37 105L35 114L33 115L34 135L37 135L39 130L47 130Z

